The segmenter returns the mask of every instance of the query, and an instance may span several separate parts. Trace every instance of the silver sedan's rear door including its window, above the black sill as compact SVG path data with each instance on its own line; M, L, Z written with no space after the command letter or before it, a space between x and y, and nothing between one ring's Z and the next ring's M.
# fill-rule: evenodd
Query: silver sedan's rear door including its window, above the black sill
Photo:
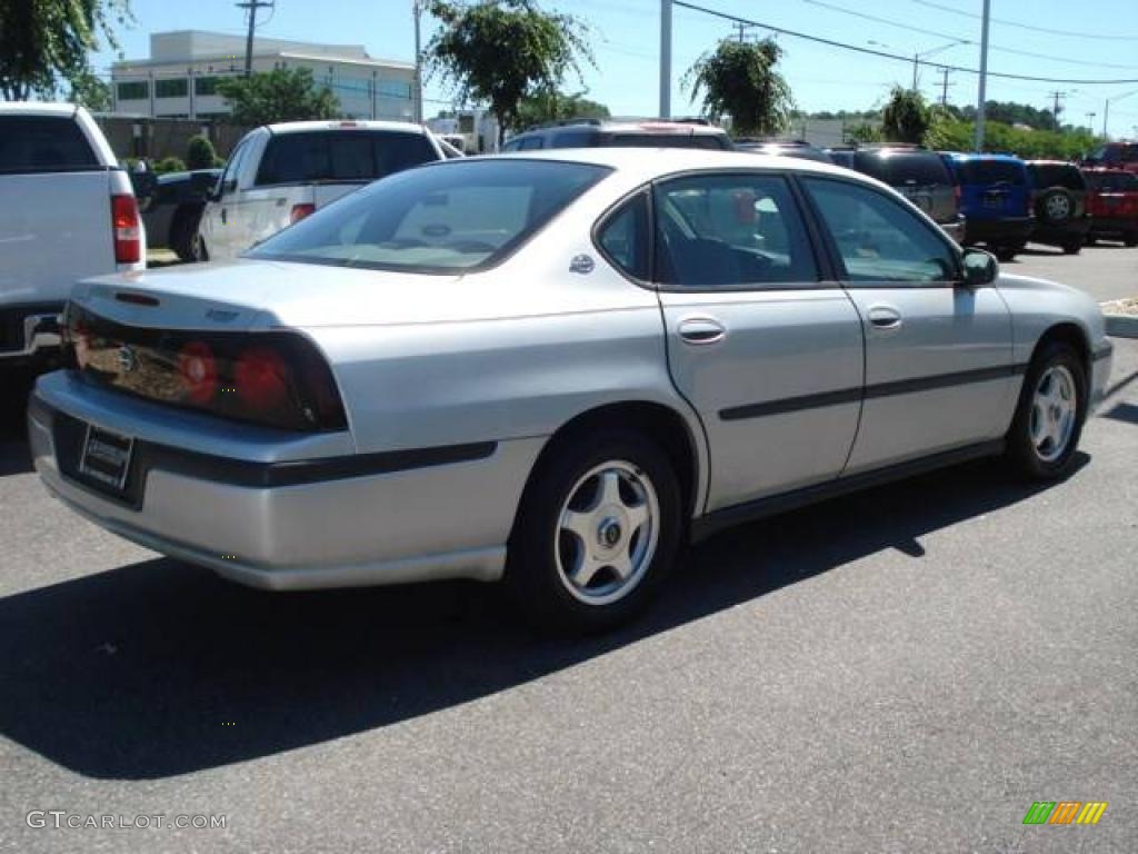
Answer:
M834 478L857 433L861 327L824 281L785 174L653 188L668 367L707 432L707 509Z

